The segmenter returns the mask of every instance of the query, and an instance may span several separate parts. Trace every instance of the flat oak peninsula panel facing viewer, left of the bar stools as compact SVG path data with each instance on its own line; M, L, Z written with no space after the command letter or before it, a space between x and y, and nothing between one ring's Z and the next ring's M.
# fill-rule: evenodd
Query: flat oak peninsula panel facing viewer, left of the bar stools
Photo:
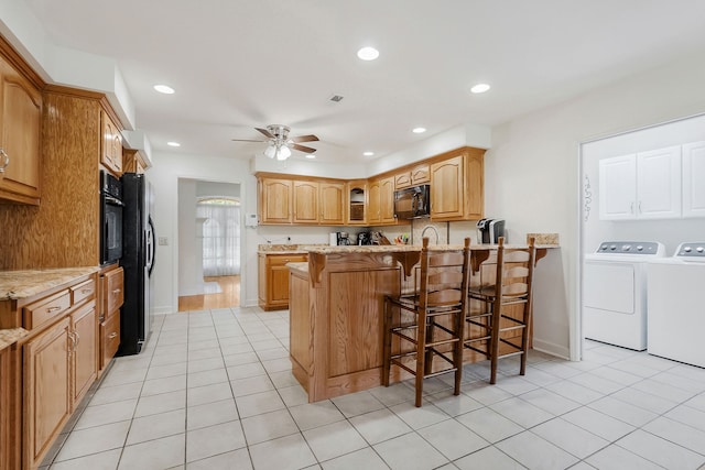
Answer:
M330 273L328 295L336 308L328 325L329 378L382 367L382 293L399 292L399 271L389 269Z

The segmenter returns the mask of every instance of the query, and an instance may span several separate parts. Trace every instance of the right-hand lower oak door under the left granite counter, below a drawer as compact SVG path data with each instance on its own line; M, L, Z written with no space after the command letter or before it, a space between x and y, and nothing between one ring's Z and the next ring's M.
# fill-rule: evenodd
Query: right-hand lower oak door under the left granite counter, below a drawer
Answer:
M73 403L84 397L98 373L98 316L90 303L70 316L74 368Z

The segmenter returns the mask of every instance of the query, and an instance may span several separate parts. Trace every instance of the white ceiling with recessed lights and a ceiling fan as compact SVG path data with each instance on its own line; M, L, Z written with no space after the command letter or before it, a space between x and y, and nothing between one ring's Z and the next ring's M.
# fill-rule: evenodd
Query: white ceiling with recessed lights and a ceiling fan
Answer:
M462 123L507 122L705 51L703 0L26 4L51 42L117 59L153 150L247 159L264 144L231 139L259 139L254 127L318 135L321 162L365 161L364 151L378 157ZM364 45L379 59L359 61ZM470 95L480 81L491 90ZM330 102L334 94L344 100ZM429 131L412 134L416 125Z

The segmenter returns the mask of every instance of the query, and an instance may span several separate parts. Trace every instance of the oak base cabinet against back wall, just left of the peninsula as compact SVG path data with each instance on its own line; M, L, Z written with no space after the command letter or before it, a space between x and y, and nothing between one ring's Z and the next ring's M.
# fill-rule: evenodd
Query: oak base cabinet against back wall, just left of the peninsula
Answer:
M286 263L308 260L306 254L259 254L259 305L264 310L289 308L289 267Z

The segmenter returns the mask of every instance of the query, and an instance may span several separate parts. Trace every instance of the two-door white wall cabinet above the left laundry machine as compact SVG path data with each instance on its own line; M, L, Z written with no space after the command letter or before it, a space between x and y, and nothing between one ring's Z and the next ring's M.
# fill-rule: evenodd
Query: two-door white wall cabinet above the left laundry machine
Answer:
M599 161L601 220L681 217L681 145Z

